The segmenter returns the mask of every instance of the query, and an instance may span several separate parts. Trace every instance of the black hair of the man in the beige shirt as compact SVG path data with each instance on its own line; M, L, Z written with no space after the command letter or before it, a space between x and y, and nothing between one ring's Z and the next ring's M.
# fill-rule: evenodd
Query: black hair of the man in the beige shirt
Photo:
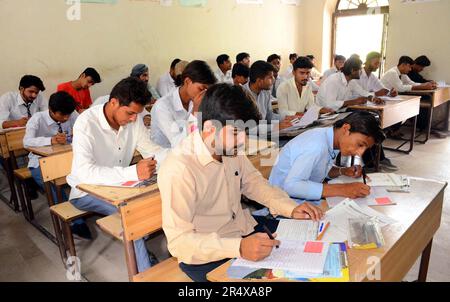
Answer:
M255 121L262 117L252 97L240 86L216 84L211 86L202 100L199 111L201 125L206 121L218 121L222 126L227 121Z

